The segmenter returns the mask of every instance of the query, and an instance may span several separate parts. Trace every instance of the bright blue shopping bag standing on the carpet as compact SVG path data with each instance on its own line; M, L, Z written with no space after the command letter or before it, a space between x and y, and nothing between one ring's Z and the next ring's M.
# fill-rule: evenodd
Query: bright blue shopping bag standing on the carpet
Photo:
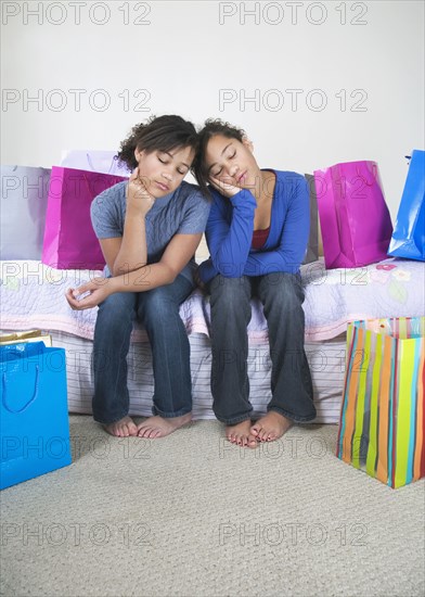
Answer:
M70 465L64 348L0 346L0 490Z

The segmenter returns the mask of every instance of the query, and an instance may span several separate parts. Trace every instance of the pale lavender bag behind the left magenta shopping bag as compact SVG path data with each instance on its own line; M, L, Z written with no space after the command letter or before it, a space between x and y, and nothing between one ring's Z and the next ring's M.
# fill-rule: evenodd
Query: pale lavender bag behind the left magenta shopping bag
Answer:
M66 150L61 166L126 177L131 174L127 164L117 158L116 151Z

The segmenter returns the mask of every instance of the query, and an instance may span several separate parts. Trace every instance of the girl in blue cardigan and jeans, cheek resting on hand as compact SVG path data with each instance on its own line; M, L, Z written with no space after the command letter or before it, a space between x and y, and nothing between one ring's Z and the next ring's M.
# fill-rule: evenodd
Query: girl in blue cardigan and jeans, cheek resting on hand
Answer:
M244 131L214 119L199 132L193 172L212 198L205 231L210 258L198 278L210 292L214 411L230 442L255 447L315 417L299 271L308 186L299 174L260 169ZM272 398L256 422L247 376L253 295L263 305L272 361Z

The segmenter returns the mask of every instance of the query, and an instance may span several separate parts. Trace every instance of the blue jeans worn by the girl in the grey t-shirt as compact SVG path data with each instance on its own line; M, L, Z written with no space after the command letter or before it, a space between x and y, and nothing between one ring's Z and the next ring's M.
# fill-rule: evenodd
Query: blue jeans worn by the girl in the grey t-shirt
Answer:
M192 410L190 345L179 315L192 290L193 284L180 275L172 284L147 292L117 292L99 305L93 347L95 421L112 423L128 415L127 354L136 318L152 346L153 414L180 417Z

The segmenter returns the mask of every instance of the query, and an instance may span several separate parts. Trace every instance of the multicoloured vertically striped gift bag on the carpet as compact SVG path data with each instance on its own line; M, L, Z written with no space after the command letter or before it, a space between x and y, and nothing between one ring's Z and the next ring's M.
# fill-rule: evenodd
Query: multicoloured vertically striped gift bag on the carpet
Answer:
M425 477L425 317L349 323L336 456L390 487Z

